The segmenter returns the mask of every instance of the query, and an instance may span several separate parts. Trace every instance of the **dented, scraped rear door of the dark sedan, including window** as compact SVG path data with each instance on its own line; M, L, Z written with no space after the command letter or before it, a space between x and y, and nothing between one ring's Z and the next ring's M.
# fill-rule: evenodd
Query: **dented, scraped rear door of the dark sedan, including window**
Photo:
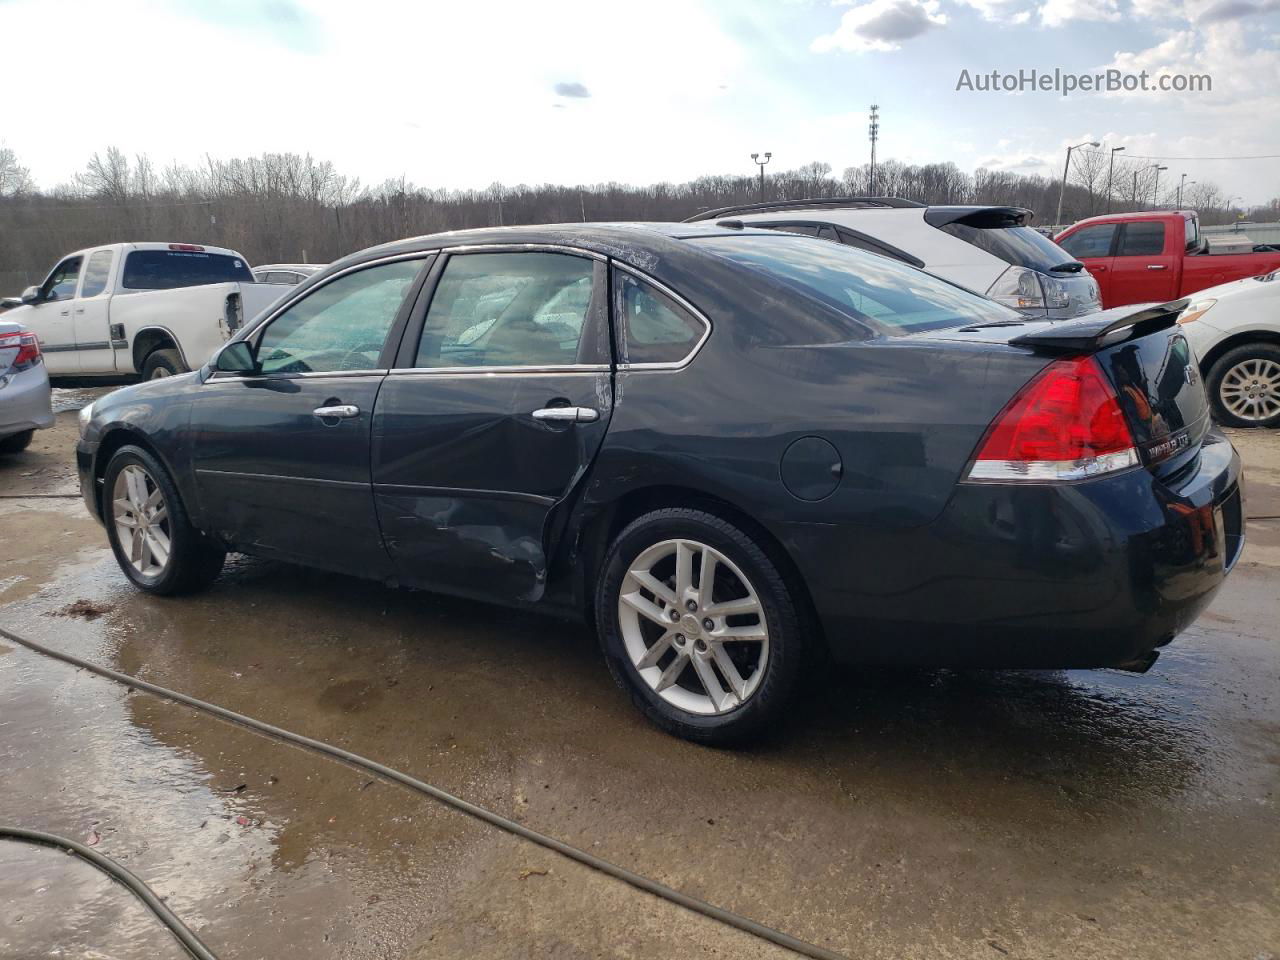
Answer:
M608 274L562 250L436 264L374 412L374 499L402 581L536 600L613 410Z

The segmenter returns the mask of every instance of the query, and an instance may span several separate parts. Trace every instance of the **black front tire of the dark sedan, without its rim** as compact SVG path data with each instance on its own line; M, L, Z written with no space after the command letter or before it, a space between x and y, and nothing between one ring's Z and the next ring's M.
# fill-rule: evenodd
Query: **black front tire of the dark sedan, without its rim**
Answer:
M160 489L168 511L169 559L161 572L151 576L140 572L129 561L128 550L120 543L119 530L114 520L113 492L115 481L120 471L131 465L137 465L146 471L155 486ZM182 497L178 494L178 488L174 485L173 477L169 476L169 471L141 447L122 447L106 465L102 488L102 518L116 563L140 590L160 596L195 593L214 582L223 570L227 550L191 525Z

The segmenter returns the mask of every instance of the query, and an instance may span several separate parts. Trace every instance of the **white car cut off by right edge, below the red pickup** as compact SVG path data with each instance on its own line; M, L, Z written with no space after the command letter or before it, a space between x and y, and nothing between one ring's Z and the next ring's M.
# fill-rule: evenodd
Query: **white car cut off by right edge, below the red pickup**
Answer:
M1201 291L1178 323L1217 421L1280 426L1280 270Z

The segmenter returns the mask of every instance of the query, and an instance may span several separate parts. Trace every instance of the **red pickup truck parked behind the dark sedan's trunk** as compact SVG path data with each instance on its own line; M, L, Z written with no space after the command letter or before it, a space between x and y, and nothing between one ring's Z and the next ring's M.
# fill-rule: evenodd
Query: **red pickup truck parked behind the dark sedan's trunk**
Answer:
M1215 252L1189 210L1091 216L1053 241L1093 274L1103 307L1178 300L1280 268L1280 250L1265 244Z

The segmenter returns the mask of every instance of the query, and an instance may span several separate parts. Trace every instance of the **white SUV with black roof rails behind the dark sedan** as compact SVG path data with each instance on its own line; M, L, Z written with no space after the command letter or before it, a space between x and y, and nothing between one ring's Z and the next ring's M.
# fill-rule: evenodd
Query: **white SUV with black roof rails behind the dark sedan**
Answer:
M707 210L689 221L765 227L893 257L1030 316L1102 308L1097 282L1018 206L925 206L899 197L780 200Z

